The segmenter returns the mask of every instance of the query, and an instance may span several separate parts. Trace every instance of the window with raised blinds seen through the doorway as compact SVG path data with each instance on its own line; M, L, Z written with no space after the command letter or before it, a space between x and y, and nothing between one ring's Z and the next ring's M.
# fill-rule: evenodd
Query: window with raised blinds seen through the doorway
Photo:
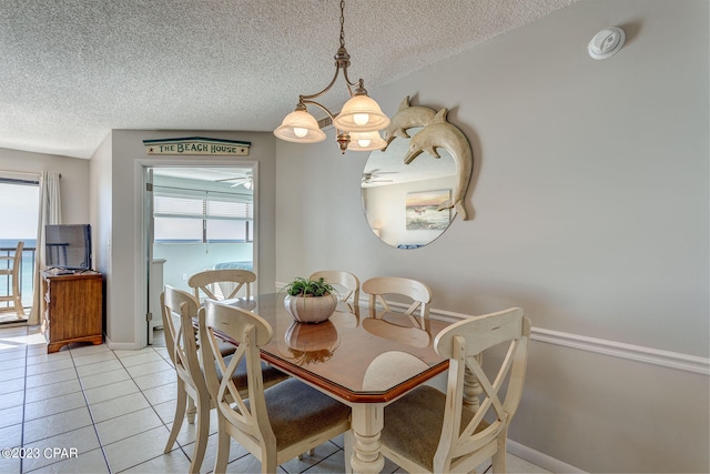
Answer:
M155 242L252 242L254 204L241 194L153 188Z

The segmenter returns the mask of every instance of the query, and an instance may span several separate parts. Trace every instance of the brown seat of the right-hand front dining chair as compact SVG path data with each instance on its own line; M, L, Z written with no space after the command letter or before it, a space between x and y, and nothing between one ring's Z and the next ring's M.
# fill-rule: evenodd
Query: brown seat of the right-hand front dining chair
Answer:
M433 472L434 454L439 444L445 410L445 393L428 385L413 390L385 406L382 444ZM464 406L462 431L473 417L474 412ZM477 431L483 428L485 426L479 426Z

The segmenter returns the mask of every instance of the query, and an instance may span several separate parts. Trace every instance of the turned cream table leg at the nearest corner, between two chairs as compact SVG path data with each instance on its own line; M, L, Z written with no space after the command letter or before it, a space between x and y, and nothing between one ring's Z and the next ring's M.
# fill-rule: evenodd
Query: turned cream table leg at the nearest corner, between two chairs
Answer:
M384 404L353 404L353 456L349 460L354 473L379 473L385 458L379 452L379 434L384 425Z

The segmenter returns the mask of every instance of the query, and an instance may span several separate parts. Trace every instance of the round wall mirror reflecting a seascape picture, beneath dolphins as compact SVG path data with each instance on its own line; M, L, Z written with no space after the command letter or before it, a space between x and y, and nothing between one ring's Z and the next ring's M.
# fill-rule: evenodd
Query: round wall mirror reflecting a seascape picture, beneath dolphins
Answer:
M414 137L422 128L407 130ZM409 140L395 138L385 151L373 151L362 179L362 200L369 228L383 242L416 249L433 242L448 228L454 209L438 210L452 200L457 183L456 161L448 150L440 158L420 153L404 160Z

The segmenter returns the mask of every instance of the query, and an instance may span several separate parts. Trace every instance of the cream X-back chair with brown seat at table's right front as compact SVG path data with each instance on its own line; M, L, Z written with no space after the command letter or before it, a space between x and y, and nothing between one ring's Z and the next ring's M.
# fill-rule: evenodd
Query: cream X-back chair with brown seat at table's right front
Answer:
M508 426L523 394L529 336L530 321L519 307L443 330L434 346L449 359L446 393L422 385L386 406L382 453L412 473L467 473L489 457L493 472L505 473ZM488 377L478 355L497 346L504 356L487 357L500 361ZM483 387L477 411L464 404L466 370Z

